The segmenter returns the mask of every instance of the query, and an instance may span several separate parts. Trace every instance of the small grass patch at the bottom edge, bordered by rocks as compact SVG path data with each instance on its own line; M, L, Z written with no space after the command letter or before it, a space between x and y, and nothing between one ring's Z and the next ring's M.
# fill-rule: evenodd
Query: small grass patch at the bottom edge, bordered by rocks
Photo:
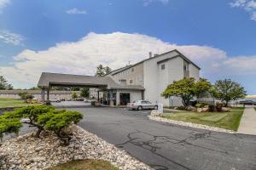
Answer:
M50 167L47 170L118 170L118 168L113 167L108 161L83 160L69 161L56 167Z

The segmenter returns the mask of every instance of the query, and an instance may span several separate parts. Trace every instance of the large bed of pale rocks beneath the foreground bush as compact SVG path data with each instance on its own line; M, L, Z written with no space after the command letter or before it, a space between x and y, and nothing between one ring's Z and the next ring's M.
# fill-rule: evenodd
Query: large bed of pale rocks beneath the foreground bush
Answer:
M73 139L68 146L61 145L53 133L42 133L41 139L32 133L10 139L0 146L0 169L45 169L73 160L98 159L111 162L119 169L152 169L137 161L113 144L95 134L73 125Z

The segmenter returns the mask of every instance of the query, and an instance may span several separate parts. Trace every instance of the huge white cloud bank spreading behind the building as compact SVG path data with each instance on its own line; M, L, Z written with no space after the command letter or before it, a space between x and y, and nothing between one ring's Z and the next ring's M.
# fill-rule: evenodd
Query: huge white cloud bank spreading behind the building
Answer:
M94 75L96 65L113 69L148 58L148 52L161 54L178 49L201 67L202 76L224 74L256 75L256 56L230 58L218 48L198 45L177 45L142 34L113 32L89 33L78 42L61 42L44 51L26 49L14 57L14 65L0 67L16 87L36 85L42 71ZM208 77L207 77L208 78Z

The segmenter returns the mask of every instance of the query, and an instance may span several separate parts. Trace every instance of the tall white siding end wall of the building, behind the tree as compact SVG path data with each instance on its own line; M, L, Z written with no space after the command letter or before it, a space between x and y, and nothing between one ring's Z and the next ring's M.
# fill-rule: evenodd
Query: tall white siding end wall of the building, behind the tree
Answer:
M172 97L171 99L165 99L161 96L161 93L166 89L168 84L172 84L173 81L183 79L183 58L176 57L169 59L166 62L157 64L158 61L171 58L177 55L176 52L171 54L165 54L155 59L149 59L144 62L144 88L145 99L151 102L159 102L166 106L183 105L182 99ZM161 65L165 65L165 70L161 70ZM199 79L199 69L195 65L189 64L189 77L195 77Z

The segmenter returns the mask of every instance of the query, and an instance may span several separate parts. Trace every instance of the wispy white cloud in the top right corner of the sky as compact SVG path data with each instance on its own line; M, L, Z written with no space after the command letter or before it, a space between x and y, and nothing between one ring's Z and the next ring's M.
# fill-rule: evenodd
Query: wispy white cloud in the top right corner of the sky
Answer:
M234 0L230 3L232 8L243 8L250 14L250 19L256 21L256 1L255 0Z

